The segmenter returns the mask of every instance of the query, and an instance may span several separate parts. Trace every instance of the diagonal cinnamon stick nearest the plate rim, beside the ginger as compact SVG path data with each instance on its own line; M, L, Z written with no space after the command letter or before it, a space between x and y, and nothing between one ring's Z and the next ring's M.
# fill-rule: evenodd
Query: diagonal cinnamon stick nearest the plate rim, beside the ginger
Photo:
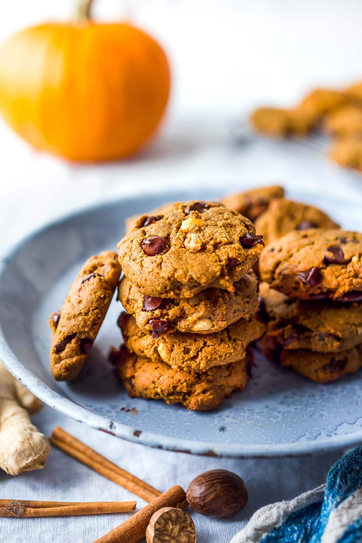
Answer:
M147 502L151 502L157 496L161 495L160 490L151 487L148 483L142 481L142 479L138 479L138 477L123 470L117 464L114 464L60 427L54 428L52 437L49 440L50 443L63 452L66 452L79 460L79 462L86 464L89 468L92 468Z

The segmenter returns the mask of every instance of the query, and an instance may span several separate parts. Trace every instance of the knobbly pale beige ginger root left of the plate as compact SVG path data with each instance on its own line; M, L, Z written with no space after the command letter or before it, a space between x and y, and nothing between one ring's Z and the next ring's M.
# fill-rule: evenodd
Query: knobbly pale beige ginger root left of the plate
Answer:
M29 418L41 406L0 361L0 468L10 475L44 467L49 441Z

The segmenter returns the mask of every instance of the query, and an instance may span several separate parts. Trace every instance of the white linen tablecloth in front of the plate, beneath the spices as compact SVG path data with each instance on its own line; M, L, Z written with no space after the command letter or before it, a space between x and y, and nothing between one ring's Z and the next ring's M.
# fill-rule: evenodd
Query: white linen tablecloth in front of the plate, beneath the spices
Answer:
M33 417L46 435L56 425L100 452L112 462L164 491L174 484L185 490L192 479L206 470L226 469L243 477L249 492L244 510L227 519L209 519L193 513L198 543L228 543L256 509L268 503L289 500L325 481L328 469L341 452L319 457L235 460L204 458L153 450L92 430L45 407ZM43 470L11 477L0 471L1 498L52 501L125 501L141 498L119 487L87 466L52 447ZM1 543L92 543L124 522L129 513L14 519L0 517ZM126 541L124 543L127 543Z

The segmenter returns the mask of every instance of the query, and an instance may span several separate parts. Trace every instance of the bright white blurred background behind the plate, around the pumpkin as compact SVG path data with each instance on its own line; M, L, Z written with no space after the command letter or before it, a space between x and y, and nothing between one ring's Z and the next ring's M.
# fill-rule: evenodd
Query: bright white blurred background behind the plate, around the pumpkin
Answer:
M4 2L0 39L32 23L66 20L73 5ZM315 85L362 79L359 0L96 0L94 14L111 20L125 11L160 40L172 64L172 100L160 140L132 161L74 166L35 153L0 122L2 243L65 210L137 187L160 191L205 182L224 192L227 185L281 180L310 190L333 181L336 192L342 184L360 190L359 178L323 155L291 161L282 144L235 148L228 133L230 120L253 105L293 104Z

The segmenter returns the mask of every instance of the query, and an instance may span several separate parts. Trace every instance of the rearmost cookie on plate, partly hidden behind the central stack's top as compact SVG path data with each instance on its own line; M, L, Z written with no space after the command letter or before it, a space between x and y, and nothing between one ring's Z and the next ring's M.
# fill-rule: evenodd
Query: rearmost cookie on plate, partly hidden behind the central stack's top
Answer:
M237 211L248 219L254 221L261 215L275 198L284 196L284 188L278 185L271 187L252 188L250 191L230 194L221 198L221 204L228 209Z

